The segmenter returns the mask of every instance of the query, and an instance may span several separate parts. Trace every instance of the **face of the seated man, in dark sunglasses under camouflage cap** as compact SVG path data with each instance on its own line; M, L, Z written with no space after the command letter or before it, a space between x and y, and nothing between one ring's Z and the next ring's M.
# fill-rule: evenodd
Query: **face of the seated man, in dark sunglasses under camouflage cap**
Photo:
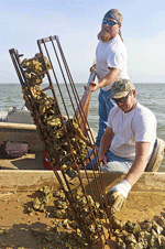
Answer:
M114 99L117 106L124 112L129 112L132 109L134 109L134 107L136 106L136 91L132 90L132 91L128 91L128 94L125 94L125 96L123 96L122 98L119 99Z

